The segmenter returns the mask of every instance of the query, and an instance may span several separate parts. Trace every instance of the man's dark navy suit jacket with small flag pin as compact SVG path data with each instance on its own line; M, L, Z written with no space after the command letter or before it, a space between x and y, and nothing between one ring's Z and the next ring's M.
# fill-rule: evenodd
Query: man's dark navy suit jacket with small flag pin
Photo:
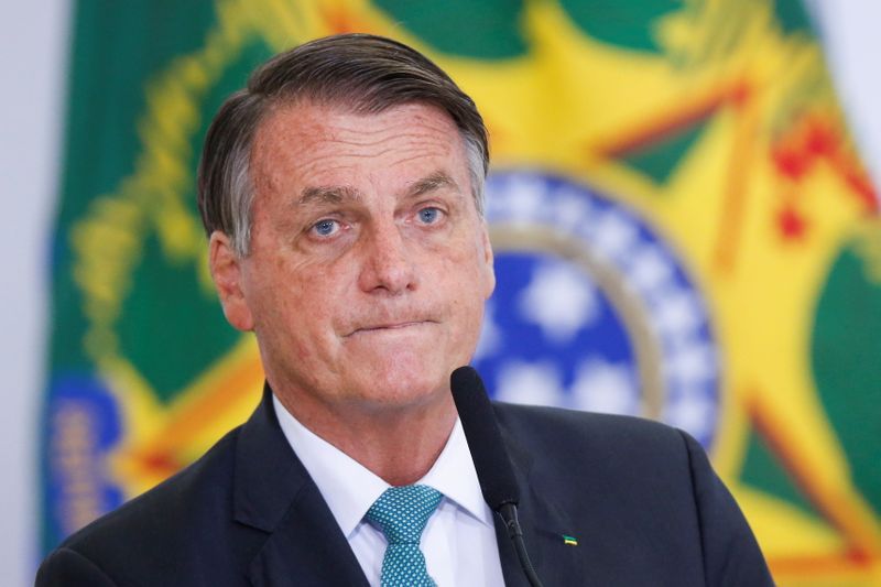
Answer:
M772 585L697 443L662 424L496 405L535 569L554 586ZM505 584L527 585L497 522ZM577 545L567 544L564 535ZM77 532L44 586L367 586L271 396L167 481Z

